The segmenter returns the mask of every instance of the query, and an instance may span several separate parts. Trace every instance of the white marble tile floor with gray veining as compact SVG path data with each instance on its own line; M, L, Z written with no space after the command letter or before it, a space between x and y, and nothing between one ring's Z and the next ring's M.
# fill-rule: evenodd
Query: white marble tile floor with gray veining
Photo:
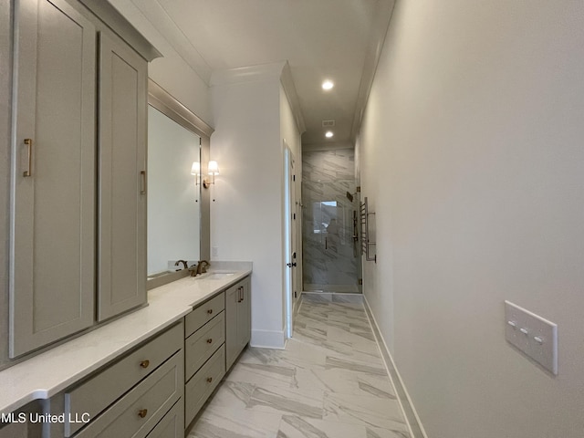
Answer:
M286 349L245 349L189 438L411 438L363 305L300 306Z

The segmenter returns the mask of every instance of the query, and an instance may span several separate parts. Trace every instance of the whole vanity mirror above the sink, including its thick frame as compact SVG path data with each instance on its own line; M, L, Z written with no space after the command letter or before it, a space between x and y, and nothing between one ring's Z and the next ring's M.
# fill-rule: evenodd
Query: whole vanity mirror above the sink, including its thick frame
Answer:
M201 188L213 129L149 81L148 288L188 276L208 258L209 195ZM208 191L207 191L208 192Z

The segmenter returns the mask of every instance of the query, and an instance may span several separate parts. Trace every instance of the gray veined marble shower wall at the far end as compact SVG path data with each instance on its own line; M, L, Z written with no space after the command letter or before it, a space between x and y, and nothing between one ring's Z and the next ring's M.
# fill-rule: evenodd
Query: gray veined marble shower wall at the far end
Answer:
M353 150L302 154L304 290L359 292L359 245L353 241L355 193ZM353 195L353 201L347 198Z

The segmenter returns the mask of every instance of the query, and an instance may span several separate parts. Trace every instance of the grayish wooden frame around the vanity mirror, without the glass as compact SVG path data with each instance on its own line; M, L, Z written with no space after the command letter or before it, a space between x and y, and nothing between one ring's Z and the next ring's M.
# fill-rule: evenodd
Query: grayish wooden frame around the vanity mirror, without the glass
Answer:
M193 111L186 108L180 101L162 89L151 78L148 79L148 104L159 110L169 119L174 120L184 129L190 130L201 138L201 170L206 170L209 163L211 149L211 134L214 129L199 118ZM199 230L199 256L201 260L209 260L211 256L211 196L208 190L202 190L201 199L201 225ZM157 276L147 280L147 289L159 287L172 281L188 276L189 271L182 269L172 274Z

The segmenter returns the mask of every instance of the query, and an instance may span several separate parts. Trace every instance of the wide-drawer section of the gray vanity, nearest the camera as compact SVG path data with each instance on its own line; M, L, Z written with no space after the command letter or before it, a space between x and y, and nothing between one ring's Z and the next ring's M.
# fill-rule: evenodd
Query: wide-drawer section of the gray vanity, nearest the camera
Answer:
M53 397L64 422L43 436L183 437L183 333L181 321Z

